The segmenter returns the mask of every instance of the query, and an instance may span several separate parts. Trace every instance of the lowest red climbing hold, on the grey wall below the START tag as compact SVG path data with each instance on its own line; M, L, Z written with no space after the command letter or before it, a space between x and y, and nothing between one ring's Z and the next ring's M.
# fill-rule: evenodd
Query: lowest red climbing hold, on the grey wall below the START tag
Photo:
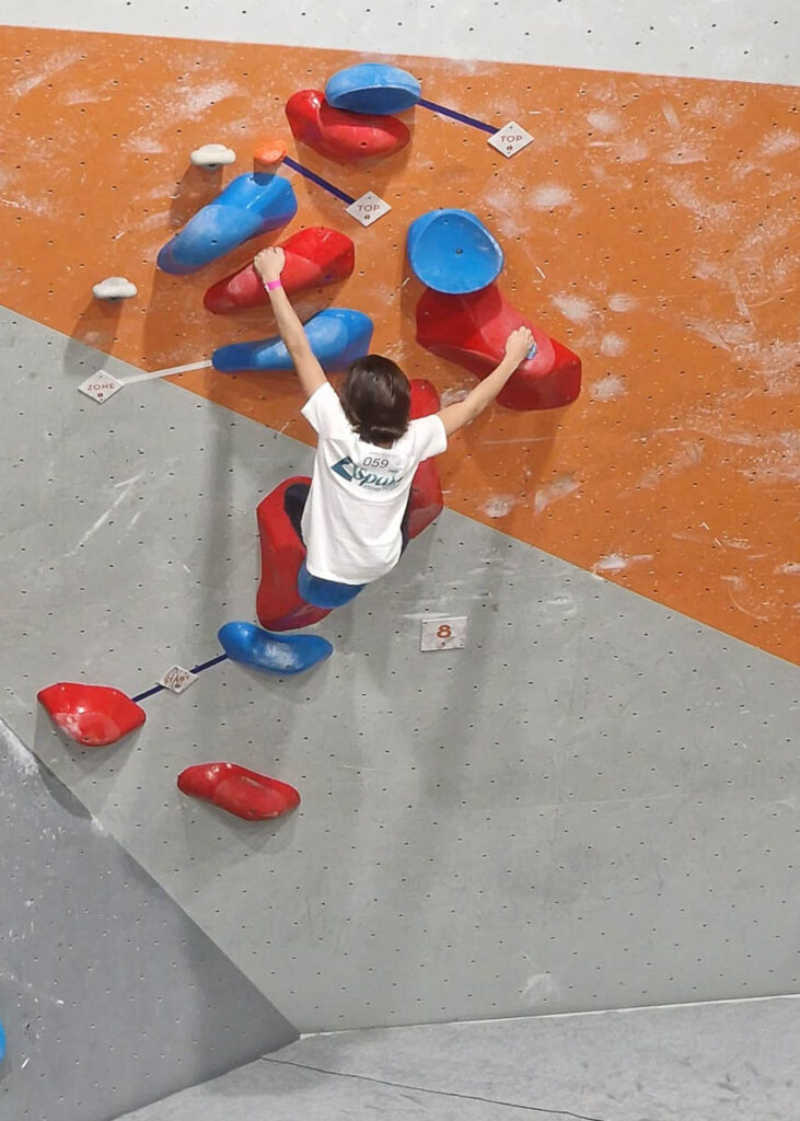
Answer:
M197 763L178 775L178 789L211 802L245 822L262 822L296 809L300 795L294 786L259 775L239 763Z

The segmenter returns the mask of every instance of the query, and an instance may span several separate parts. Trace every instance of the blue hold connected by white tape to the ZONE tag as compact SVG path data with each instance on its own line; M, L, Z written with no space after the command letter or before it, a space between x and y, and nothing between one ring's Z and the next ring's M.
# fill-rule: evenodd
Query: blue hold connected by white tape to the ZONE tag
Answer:
M327 307L305 324L306 335L317 361L327 373L346 370L356 358L370 351L372 319L350 307ZM252 343L231 343L211 356L215 370L236 373L239 370L294 370L286 344L279 336Z

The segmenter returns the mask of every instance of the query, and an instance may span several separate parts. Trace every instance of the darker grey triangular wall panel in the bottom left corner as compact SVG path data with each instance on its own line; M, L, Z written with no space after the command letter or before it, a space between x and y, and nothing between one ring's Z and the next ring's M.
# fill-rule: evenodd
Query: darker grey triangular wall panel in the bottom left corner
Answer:
M106 1121L296 1038L0 722L3 1121Z

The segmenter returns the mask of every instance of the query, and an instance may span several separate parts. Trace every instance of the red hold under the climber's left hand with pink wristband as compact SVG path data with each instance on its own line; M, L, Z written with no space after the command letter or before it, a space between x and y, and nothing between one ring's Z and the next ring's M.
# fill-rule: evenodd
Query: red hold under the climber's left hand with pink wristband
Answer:
M280 247L286 253L280 279L289 296L305 288L344 280L355 267L352 240L345 233L324 225L300 230L280 242ZM227 315L241 308L263 307L269 303L269 296L251 262L212 285L203 303L210 312Z

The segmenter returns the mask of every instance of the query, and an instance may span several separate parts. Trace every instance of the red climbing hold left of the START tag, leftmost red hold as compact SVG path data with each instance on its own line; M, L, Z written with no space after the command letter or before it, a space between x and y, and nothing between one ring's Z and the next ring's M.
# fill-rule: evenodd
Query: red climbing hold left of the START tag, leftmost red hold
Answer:
M57 682L40 689L37 700L53 722L84 748L117 743L147 720L143 708L110 685Z

